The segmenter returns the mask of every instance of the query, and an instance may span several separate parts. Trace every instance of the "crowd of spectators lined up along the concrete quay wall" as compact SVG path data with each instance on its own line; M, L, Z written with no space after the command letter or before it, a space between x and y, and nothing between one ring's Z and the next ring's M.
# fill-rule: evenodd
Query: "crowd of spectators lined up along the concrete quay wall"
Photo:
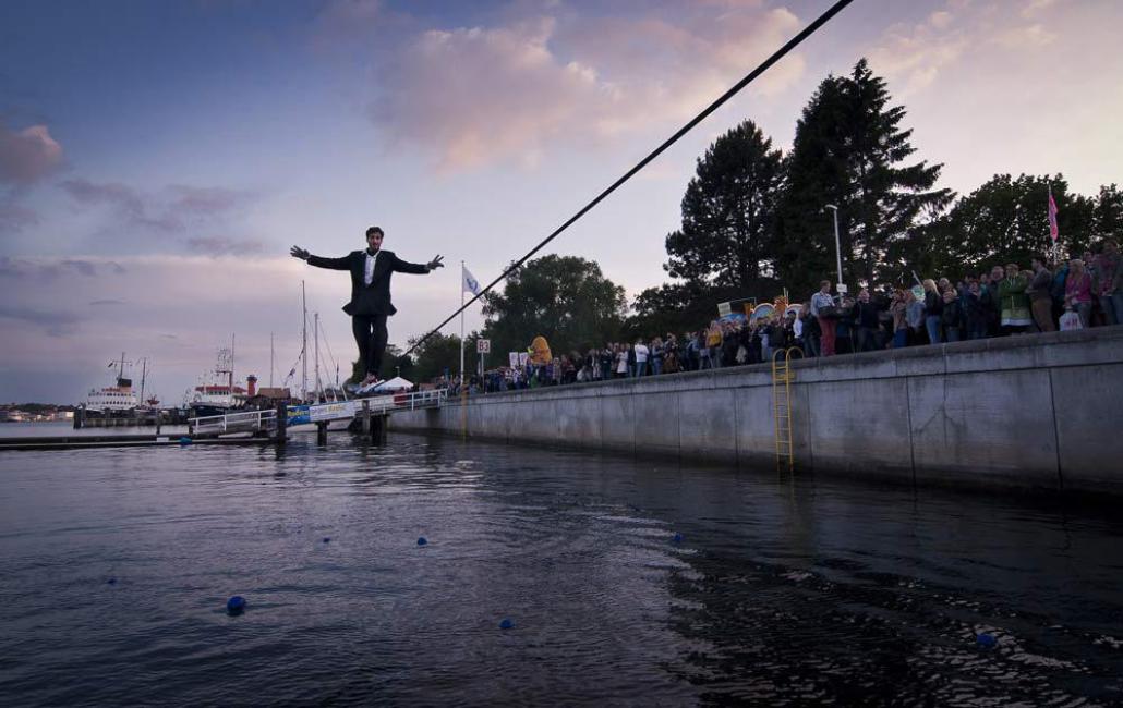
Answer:
M830 282L801 305L769 316L713 320L681 335L609 342L546 364L474 375L469 390L502 392L613 378L658 376L772 360L797 347L805 357L916 347L1123 324L1123 266L1117 243L1104 240L1081 258L1030 268L1010 263L958 281L921 281L911 287L862 287L856 297L830 294ZM919 296L919 291L923 296ZM445 381L458 389L458 381Z

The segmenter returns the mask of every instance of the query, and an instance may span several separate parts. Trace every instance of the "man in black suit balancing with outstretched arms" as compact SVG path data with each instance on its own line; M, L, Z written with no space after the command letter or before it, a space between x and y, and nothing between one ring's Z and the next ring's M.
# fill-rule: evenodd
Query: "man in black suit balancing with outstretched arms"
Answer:
M394 272L424 275L445 265L441 256L427 264L407 263L393 251L382 250L383 236L382 229L371 227L366 230L367 249L351 251L343 258L313 256L298 246L290 251L294 258L318 268L350 270L351 298L344 305L344 312L351 316L359 362L366 373L362 386L378 380L382 355L386 350L386 318L398 312L390 302L390 276Z

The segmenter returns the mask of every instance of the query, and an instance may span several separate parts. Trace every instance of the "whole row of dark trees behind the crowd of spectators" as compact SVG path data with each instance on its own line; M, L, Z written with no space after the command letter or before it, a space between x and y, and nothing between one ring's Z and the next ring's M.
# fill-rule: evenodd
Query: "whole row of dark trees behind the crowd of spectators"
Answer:
M816 88L796 122L786 154L752 120L714 140L697 158L682 200L682 223L667 233L669 281L642 291L629 313L624 291L584 258L528 261L502 292L484 296L483 331L466 342L492 342L489 365L524 350L542 334L556 352L584 351L621 338L693 330L716 303L801 301L822 279L836 279L832 214L838 208L842 277L851 287L958 277L995 264L1028 264L1049 246L1046 204L1057 202L1061 252L1080 252L1123 232L1123 192L1115 184L1087 196L1062 174L996 174L966 196L939 187L942 164L914 158L906 110L862 58ZM411 341L411 344L413 342ZM409 366L418 380L459 366L459 337L433 335ZM390 373L392 375L392 371ZM404 369L403 369L403 375Z

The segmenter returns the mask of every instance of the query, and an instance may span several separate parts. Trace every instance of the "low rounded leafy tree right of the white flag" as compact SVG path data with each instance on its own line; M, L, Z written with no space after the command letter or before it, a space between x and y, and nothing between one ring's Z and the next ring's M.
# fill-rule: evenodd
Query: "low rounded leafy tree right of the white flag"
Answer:
M526 351L539 334L555 352L584 350L618 338L626 309L624 289L595 263L544 256L508 276L502 293L484 295L483 334L497 357Z

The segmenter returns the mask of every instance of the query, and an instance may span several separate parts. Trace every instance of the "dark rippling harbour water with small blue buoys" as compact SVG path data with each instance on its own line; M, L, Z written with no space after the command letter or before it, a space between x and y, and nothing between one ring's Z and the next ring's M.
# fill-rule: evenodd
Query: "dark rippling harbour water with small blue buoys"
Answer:
M1106 705L1121 532L1110 509L408 435L3 452L0 695Z

